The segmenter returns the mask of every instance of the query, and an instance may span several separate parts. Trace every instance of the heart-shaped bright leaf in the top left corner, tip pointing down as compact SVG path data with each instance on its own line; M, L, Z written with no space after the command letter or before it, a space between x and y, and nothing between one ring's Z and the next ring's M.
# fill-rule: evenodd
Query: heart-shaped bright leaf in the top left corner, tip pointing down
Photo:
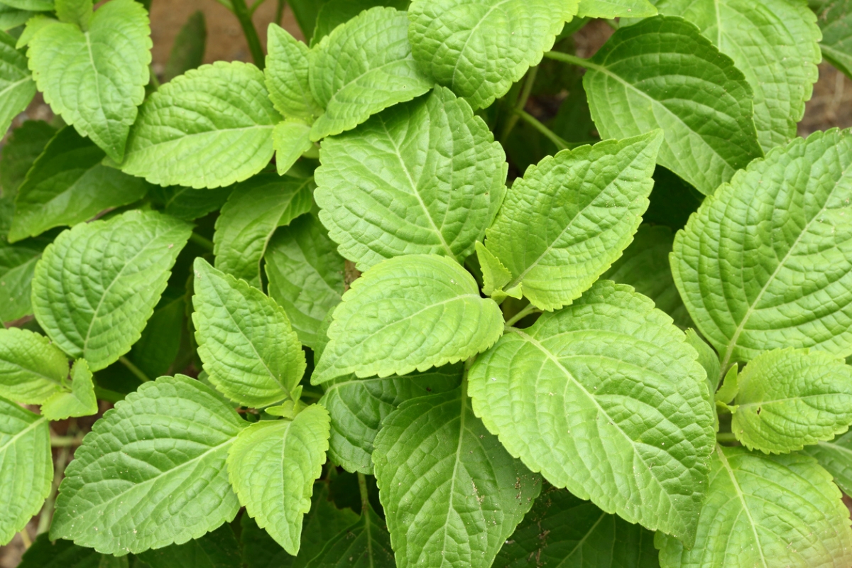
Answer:
M90 5L90 4L89 4ZM151 28L140 3L112 0L76 24L38 28L27 55L50 108L120 163L150 78ZM120 54L120 60L116 60Z

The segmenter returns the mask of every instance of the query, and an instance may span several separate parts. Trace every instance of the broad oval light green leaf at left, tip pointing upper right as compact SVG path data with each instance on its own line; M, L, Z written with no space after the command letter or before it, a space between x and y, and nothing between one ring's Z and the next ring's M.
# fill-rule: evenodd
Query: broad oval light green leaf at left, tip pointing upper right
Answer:
M183 221L139 210L62 232L32 279L38 323L56 347L104 369L139 339L190 232Z

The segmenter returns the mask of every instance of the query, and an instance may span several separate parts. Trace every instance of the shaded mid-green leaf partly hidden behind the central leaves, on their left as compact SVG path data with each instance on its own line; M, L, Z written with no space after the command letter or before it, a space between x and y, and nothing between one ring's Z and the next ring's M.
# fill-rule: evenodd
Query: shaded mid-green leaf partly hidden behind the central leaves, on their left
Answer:
M314 349L320 324L343 295L343 257L314 215L279 227L265 255L269 296L283 307L299 341Z

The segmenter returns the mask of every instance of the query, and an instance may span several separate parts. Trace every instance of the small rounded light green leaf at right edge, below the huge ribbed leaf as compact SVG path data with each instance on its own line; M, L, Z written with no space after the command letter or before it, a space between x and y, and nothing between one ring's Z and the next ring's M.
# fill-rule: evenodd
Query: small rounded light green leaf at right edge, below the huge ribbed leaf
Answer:
M750 450L801 450L852 424L852 366L828 353L763 353L746 365L738 384L731 431Z

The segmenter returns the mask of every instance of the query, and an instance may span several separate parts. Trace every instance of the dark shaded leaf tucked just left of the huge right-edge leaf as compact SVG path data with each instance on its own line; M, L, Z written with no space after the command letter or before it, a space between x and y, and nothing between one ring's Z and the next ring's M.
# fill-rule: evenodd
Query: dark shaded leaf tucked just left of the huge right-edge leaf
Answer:
M613 266L601 278L630 284L668 313L678 327L686 329L694 324L671 276L669 253L674 240L675 236L669 227L639 227L633 242L625 249L625 254L613 262ZM717 377L718 373L712 378Z

